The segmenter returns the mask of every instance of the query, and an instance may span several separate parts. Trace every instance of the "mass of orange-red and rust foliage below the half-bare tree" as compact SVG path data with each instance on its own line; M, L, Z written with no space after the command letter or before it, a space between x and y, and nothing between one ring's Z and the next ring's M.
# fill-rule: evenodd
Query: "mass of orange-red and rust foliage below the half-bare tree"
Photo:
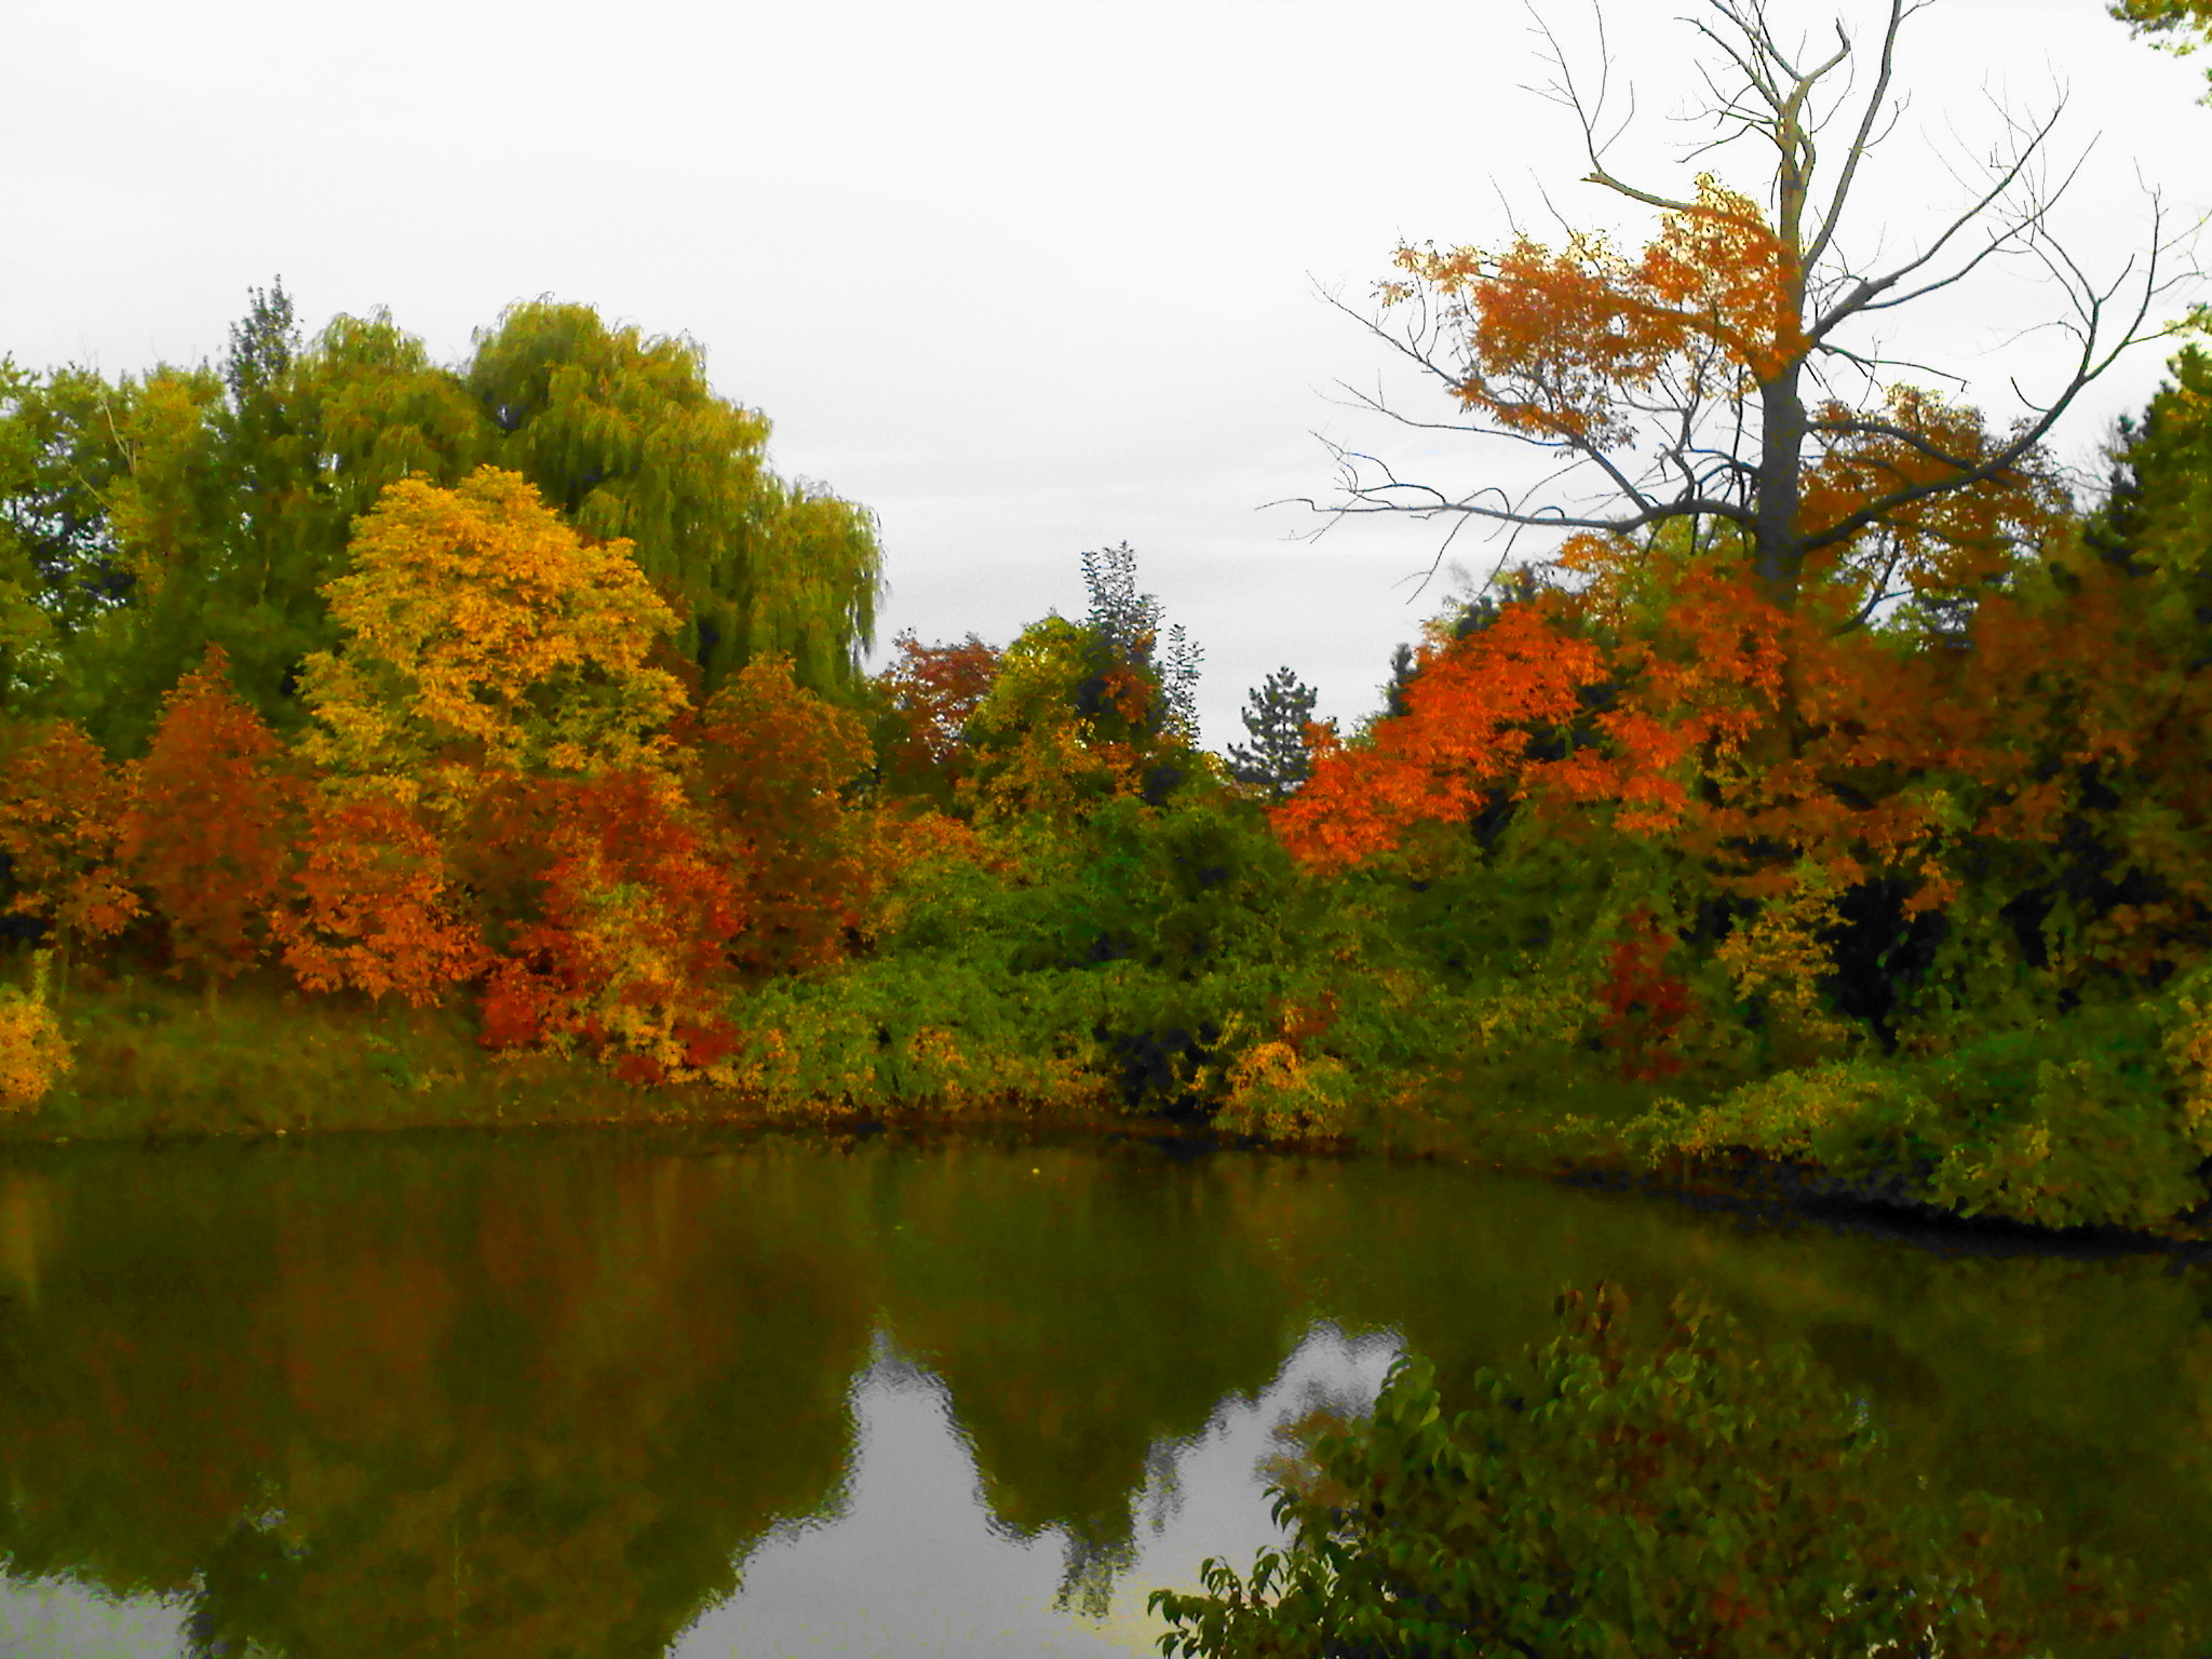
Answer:
M2203 465L2197 363L2137 467ZM1854 434L1836 414L1807 456L1807 533L1849 533L1787 604L1730 524L1575 535L1546 580L1431 630L1400 712L1312 732L1285 845L1418 880L1458 845L1493 891L1515 847L1610 865L1579 973L1644 1079L1681 1068L1690 1006L1794 1066L1865 1040L1847 1013L1942 1046L2000 984L2064 1011L2192 971L2212 949L2201 522L2135 493L2081 515L2031 449L1858 524L2000 445L1924 392L1885 411Z

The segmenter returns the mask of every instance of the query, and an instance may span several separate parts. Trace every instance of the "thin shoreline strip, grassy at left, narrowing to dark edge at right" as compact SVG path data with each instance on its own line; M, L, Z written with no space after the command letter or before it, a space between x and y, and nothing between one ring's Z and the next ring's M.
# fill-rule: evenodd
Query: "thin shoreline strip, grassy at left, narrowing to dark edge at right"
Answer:
M1818 1221L1922 1248L2042 1254L2166 1254L2212 1261L2212 1217L2172 1230L2048 1228L1966 1217L1911 1199L1898 1183L1869 1190L1820 1166L1734 1148L1644 1166L1606 1148L1562 1152L1526 1126L1484 1135L1438 1113L1376 1121L1327 1141L1265 1141L1206 1121L1144 1117L1099 1097L916 1102L876 1113L832 1102L794 1108L708 1086L648 1088L597 1062L555 1053L493 1055L456 1009L332 1004L292 991L239 987L217 1004L166 982L88 984L66 1000L75 1066L38 1106L0 1115L0 1148L82 1144L166 1148L405 1133L803 1133L832 1141L1015 1135L1265 1150L1298 1159L1383 1157L1482 1166L1564 1186L1663 1197L1759 1219ZM276 1037L272 1022L283 1026ZM1449 1082L1436 1079L1436 1097ZM2208 1206L2212 1208L2212 1206Z

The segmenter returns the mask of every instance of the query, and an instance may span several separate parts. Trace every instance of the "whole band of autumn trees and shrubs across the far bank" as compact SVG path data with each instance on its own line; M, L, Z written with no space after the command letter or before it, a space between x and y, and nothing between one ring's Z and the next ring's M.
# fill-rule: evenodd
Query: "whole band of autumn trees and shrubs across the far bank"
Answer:
M1617 458L1652 409L1803 367L1792 234L1703 179L1639 254L1407 250L1385 299L1444 305L1478 429ZM1197 745L1199 653L1126 544L1084 555L1084 615L905 635L863 688L856 648L830 672L821 635L721 633L743 582L717 566L734 611L701 608L703 542L624 540L681 540L677 495L617 467L555 498L462 445L363 487L296 672L257 681L234 628L148 690L144 759L0 726L0 938L66 964L126 936L210 989L268 958L776 1113L1119 1102L1332 1139L1444 1071L1455 1113L1548 1115L1544 1157L1858 1157L1942 1203L2163 1221L2203 1186L2168 1073L2212 971L2212 369L2177 376L2097 511L1953 398L1801 403L1787 524L1725 491L1590 520L1440 615L1383 714L1305 726L1272 805ZM217 396L170 376L124 416ZM584 427L500 453L557 473ZM153 471L117 500L131 580L175 602L199 577L161 538L206 502ZM2093 1053L2024 1075L2004 1044L2068 1020ZM1978 1042L1984 1082L1898 1082ZM1584 1088L1635 1133L1555 1102Z

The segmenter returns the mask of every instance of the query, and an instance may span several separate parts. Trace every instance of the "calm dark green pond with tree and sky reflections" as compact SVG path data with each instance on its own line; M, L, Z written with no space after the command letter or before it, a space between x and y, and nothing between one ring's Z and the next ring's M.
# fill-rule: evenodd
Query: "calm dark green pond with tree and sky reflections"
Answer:
M1141 1652L1402 1345L1597 1279L1803 1338L1931 1482L2212 1524L2212 1265L1150 1141L0 1159L0 1652Z

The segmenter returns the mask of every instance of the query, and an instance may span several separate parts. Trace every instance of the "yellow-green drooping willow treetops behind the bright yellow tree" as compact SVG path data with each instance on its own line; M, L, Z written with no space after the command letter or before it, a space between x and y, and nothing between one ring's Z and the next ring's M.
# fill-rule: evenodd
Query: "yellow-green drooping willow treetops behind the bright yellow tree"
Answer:
M776 653L858 695L883 553L874 515L765 465L768 418L699 347L533 301L447 367L387 312L314 336L257 290L215 367L0 376L0 699L144 748L208 644L263 719L305 723L301 666L336 644L323 586L400 478L524 473L584 535L630 538L684 622L703 695Z

